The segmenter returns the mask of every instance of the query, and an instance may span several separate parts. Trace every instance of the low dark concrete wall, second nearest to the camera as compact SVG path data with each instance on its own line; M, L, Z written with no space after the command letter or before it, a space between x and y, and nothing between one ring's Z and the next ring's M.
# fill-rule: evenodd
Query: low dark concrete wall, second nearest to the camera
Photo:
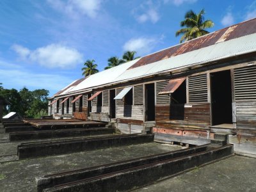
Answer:
M58 141L38 141L18 145L19 159L69 154L85 150L120 147L154 141L154 134L131 134Z

